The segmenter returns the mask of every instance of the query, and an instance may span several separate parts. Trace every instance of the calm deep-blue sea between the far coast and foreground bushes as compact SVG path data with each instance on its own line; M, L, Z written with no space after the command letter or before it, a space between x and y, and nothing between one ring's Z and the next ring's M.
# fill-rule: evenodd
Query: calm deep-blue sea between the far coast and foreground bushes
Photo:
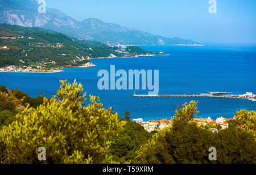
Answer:
M236 110L256 110L256 102L243 99L208 97L133 97L134 91L103 90L97 88L97 72L101 69L159 70L159 94L207 93L209 91L256 93L255 46L141 46L143 49L170 54L170 56L93 59L97 67L64 69L52 74L0 72L0 84L9 89L36 97L51 97L60 87L59 80L81 82L87 94L101 98L105 108L113 107L123 117L128 110L132 118L170 119L177 105L191 100L199 101L198 117L220 116L233 118ZM147 94L147 91L136 91Z

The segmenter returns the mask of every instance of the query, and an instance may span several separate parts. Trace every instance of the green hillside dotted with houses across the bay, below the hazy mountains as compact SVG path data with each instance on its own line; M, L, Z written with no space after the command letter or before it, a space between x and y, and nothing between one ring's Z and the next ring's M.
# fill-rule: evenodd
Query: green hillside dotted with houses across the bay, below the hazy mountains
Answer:
M117 57L159 54L147 52L137 46L113 48L101 42L82 41L46 29L18 25L0 24L0 37L0 46L8 48L0 50L0 67L20 65L35 68L43 66L49 69L81 66L90 62L85 58L110 57L110 54Z

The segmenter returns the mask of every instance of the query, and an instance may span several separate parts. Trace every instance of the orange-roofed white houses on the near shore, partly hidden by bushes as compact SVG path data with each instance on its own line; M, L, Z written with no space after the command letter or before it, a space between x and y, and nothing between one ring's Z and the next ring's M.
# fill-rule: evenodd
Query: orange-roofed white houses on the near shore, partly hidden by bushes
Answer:
M207 123L212 123L213 126L219 125L219 126L221 126L221 129L226 129L229 127L229 123L228 123L229 120L233 120L233 118L228 119L228 118L224 118L224 117L219 117L216 120L213 120L210 117L194 118L194 120L191 122L195 122L199 126L205 126L205 125L207 125ZM159 129L162 130L162 129L172 125L172 119L170 119L170 120L160 119L159 121L156 121L153 119L151 121L143 122L143 118L137 118L137 119L133 119L133 121L137 122L139 125L143 126L144 129L148 132L157 131ZM210 130L217 131L217 129L215 127L211 128Z

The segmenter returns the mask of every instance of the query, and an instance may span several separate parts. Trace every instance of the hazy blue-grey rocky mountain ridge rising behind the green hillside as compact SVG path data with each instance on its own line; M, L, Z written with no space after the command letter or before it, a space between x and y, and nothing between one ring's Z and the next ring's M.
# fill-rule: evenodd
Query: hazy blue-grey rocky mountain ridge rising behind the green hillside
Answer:
M51 29L82 40L109 42L114 45L198 44L193 40L153 35L95 18L75 20L55 8L46 8L46 14L39 14L39 5L34 0L1 0L0 5L0 23Z

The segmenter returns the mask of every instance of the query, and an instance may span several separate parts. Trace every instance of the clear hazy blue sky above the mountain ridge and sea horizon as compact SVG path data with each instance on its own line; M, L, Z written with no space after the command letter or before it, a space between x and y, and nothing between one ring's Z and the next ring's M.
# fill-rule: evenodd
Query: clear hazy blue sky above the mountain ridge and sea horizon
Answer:
M256 43L256 0L46 0L75 19L104 22L197 42Z

